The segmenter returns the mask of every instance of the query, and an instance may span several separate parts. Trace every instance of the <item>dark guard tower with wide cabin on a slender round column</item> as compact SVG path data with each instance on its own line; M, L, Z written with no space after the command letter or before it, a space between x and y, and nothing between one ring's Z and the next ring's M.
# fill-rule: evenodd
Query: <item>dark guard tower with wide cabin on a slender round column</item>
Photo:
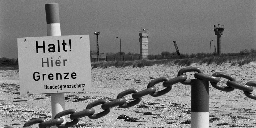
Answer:
M213 30L215 35L217 35L217 55L221 55L220 36L223 35L224 25L220 26L220 24L218 24L218 27L214 25Z

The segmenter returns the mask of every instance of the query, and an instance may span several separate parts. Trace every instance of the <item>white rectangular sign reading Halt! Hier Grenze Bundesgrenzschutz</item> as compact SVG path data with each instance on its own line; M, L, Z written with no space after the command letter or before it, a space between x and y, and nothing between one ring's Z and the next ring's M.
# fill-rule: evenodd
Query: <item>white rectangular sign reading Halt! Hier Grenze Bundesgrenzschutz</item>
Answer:
M89 35L18 38L21 94L91 91Z

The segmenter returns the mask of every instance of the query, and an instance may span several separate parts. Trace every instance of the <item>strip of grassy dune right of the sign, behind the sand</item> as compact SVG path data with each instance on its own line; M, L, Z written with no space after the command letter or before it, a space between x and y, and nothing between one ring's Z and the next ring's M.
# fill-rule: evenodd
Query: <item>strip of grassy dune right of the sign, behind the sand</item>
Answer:
M210 56L201 58L183 58L183 59L162 59L162 60L135 60L124 62L92 62L92 68L108 68L108 67L144 67L154 65L179 65L190 66L191 64L216 64L231 63L231 66L241 66L250 62L256 62L256 54L251 53L247 55L236 56Z

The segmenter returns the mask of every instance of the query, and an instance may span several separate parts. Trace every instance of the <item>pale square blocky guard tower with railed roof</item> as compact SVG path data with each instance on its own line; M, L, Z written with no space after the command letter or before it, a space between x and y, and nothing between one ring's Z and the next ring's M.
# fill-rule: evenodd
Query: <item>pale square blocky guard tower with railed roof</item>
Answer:
M148 29L139 30L140 59L148 59Z

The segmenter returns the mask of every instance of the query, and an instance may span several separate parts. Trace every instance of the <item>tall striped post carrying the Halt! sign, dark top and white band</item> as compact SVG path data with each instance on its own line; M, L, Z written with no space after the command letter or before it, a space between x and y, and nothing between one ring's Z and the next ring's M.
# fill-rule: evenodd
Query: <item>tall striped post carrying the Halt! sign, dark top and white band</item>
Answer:
M59 5L57 3L49 3L45 5L46 23L47 23L47 36L61 36L60 22L59 22ZM65 110L65 96L64 93L52 93L52 119L55 115ZM65 116L63 123L66 123ZM53 126L53 128L57 128Z

